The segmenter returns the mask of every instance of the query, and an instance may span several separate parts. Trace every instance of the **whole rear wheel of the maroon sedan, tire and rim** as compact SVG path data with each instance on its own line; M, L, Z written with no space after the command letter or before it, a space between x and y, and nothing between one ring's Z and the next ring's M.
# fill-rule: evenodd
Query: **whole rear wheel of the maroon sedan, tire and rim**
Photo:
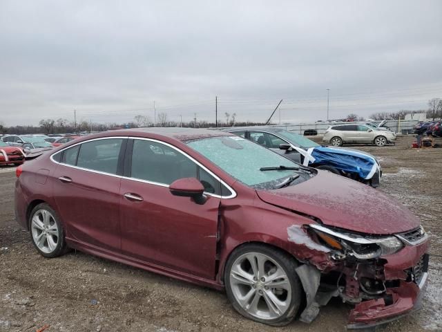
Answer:
M48 204L37 205L29 217L30 238L41 256L53 258L67 250L59 216Z

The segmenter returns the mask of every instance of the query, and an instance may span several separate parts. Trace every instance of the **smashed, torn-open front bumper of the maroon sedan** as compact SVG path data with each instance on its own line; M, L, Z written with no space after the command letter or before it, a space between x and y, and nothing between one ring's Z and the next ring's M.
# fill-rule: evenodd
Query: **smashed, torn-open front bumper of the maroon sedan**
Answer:
M305 245L317 252L305 257L307 259L303 261L306 264L296 269L306 294L306 307L300 314L302 322L313 321L320 306L327 304L332 297L341 297L343 302L354 305L349 314L348 329L385 324L420 308L427 286L427 252L430 248L423 229L409 232L419 237L412 241L403 234L397 234L396 237L405 243L401 250L367 259L356 255L356 252L315 248L307 238L301 238L299 230L294 232L293 227L289 230L291 241L299 243L303 240ZM341 234L341 237L345 239L345 235ZM314 239L314 236L311 238Z

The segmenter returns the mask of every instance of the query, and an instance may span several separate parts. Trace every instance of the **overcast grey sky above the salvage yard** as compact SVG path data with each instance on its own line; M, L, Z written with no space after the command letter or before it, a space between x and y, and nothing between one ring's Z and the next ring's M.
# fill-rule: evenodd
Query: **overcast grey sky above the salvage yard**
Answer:
M442 98L442 1L0 1L0 121L282 122ZM278 117L275 118L278 122Z

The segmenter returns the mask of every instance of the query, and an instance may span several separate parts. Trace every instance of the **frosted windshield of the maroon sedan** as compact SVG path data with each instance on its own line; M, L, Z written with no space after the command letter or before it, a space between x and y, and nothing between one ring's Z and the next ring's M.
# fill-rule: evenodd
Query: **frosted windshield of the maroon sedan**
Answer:
M310 176L308 172L298 169L300 165L238 136L201 138L189 140L186 144L233 178L251 187L273 189L279 187L287 177L296 172L307 175L307 178ZM263 167L280 167L280 169L260 170ZM284 167L296 169L284 169ZM306 176L300 176L293 184L305 179Z

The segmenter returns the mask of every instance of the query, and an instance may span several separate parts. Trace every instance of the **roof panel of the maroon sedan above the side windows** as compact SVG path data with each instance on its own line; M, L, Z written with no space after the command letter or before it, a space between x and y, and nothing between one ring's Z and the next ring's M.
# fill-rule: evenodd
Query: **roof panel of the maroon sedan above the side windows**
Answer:
M89 136L84 136L85 140L95 137L106 136L164 136L173 138L175 140L185 141L194 140L197 138L209 138L218 136L233 136L231 133L224 133L218 130L209 129L195 129L195 128L180 128L180 127L151 127L151 128L133 128L133 129L119 129L115 131L104 131Z

